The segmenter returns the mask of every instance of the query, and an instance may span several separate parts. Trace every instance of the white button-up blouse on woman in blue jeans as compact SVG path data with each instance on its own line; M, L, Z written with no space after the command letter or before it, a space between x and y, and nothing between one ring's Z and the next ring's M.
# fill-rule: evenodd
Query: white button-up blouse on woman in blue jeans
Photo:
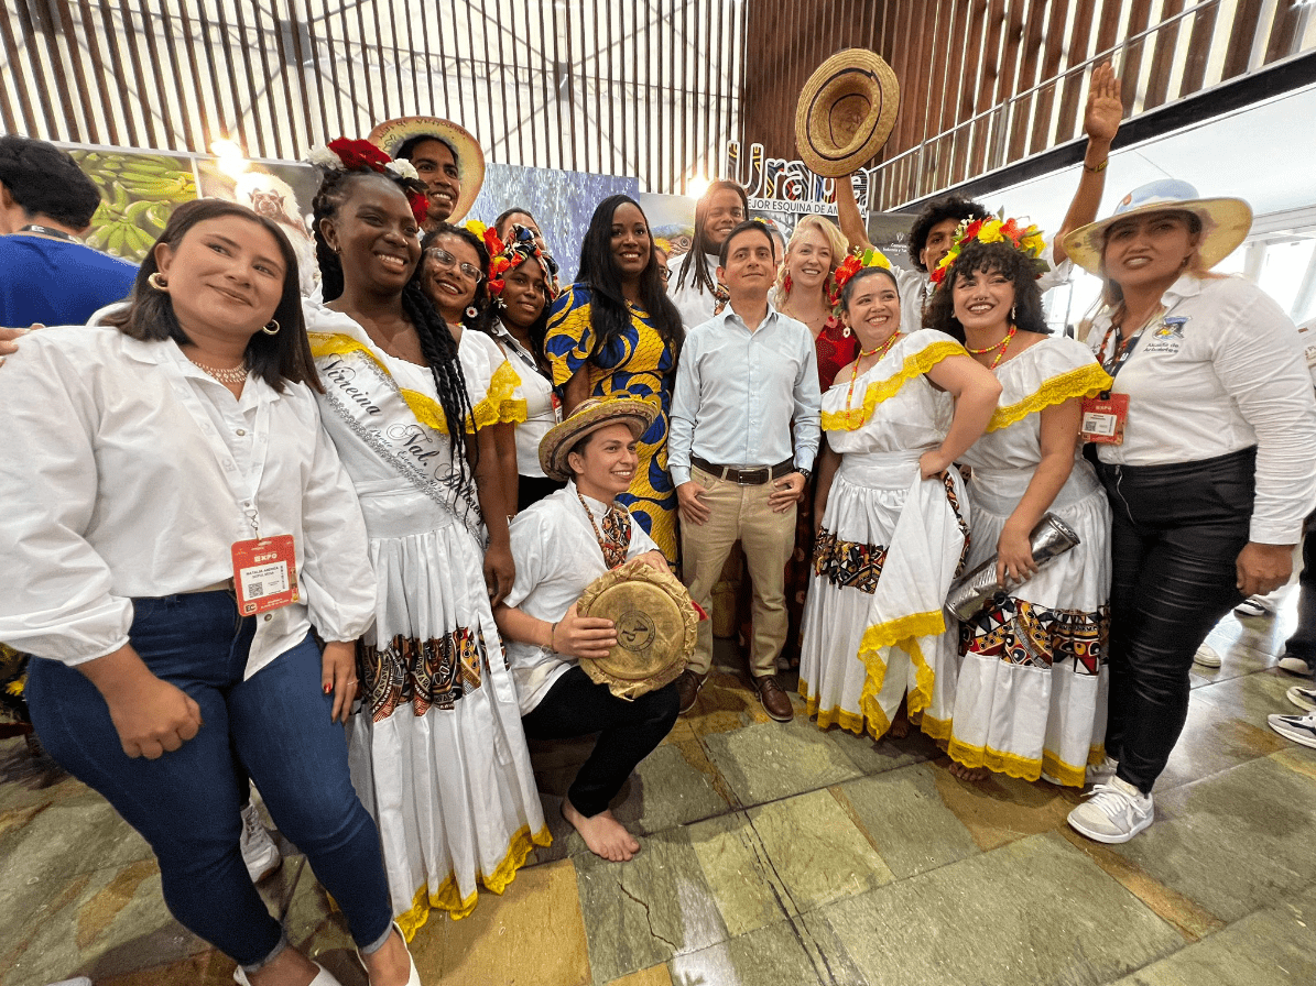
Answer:
M253 376L236 398L174 342L25 337L0 369L0 640L38 657L101 657L128 643L134 597L230 578L253 514L259 536L293 536L304 602L257 617L247 677L309 619L353 640L374 618L361 507L311 389Z

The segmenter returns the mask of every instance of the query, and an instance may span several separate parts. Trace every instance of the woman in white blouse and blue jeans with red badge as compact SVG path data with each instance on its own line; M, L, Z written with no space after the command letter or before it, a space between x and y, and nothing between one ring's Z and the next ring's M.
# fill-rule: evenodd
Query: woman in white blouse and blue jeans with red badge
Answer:
M150 843L170 911L238 982L336 982L247 877L246 770L395 986L417 979L342 730L375 578L300 304L278 226L203 200L107 325L24 340L0 376L0 639L34 655L45 748Z

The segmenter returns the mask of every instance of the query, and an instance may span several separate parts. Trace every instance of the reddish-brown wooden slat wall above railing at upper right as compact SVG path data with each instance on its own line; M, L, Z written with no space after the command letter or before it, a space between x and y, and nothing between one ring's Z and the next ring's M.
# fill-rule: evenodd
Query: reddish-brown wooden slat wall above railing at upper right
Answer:
M891 64L900 117L870 163L883 209L1080 137L1090 60L1112 49L1132 113L1316 49L1316 5L1290 0L746 5L744 134L769 156L797 156L795 100L822 60L865 46Z

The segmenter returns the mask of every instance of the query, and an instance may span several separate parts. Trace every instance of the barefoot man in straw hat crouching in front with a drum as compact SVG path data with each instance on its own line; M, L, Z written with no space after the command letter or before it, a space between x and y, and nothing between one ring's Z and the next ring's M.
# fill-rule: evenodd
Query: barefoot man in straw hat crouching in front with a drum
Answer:
M591 852L615 862L632 858L640 843L608 803L675 724L675 673L632 701L597 684L580 659L605 659L617 644L617 628L611 619L582 617L576 601L591 582L628 561L667 573L653 538L616 502L638 468L637 442L657 417L657 401L591 397L544 436L540 464L567 485L512 522L516 581L494 610L507 640L525 735L600 734L562 801L562 815ZM675 578L670 581L679 589ZM676 673L682 667L683 661Z

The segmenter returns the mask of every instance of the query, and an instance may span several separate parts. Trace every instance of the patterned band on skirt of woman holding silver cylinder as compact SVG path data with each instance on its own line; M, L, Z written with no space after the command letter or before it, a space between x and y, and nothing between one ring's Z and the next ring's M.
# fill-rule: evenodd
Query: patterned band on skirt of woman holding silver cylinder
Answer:
M959 653L983 653L1030 668L1073 661L1075 674L1096 674L1109 638L1109 606L1096 613L1053 610L1007 596L999 606L959 624Z

